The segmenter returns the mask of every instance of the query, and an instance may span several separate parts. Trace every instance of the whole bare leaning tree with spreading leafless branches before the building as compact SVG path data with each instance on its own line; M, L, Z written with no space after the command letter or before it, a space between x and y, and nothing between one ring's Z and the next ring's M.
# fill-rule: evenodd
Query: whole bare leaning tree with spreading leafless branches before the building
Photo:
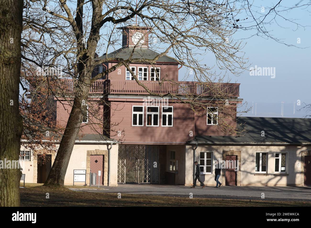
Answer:
M45 74L46 82L51 90L58 88L56 97L62 97L62 102L65 101L63 104L71 107L57 156L45 185L63 185L75 139L88 111L84 104L91 102L90 88L96 80L121 66L125 66L137 84L150 95L174 98L176 102L187 105L200 115L211 111L208 106L217 105L222 113L219 130L229 134L239 133L235 123L228 123L230 115L236 116L237 102L231 99L230 89L217 84L229 82L228 74L238 76L247 67L247 59L242 51L244 44L234 41L232 35L239 29L255 29L257 35L273 38L264 29L266 19L273 15L275 20L276 17L281 17L280 12L290 10L287 8L277 11L281 7L280 2L256 18L249 1L139 0L135 4L133 1L78 0L74 4L65 0L26 0L22 57L24 61L38 67L62 68L62 78L59 75ZM251 22L247 21L248 14L252 15ZM252 25L242 26L246 22ZM271 24L271 21L268 23ZM122 46L122 32L117 28L133 24L147 28L154 40L151 48L159 54L151 59L137 56L139 45L135 45L126 59L109 57L109 51L118 51L118 47ZM102 50L106 54L100 59L96 58L96 52ZM213 53L217 69L202 63L207 52ZM159 58L166 55L173 56L179 65L193 72L193 90L188 85L163 77L156 80L159 86L169 84L171 89L165 93L151 91L129 67L133 62L154 66ZM96 65L109 61L116 61L116 64L92 77ZM188 77L190 76L185 76L183 80ZM62 85L62 79L66 78L72 79L72 85ZM172 92L176 87L186 91L183 94L186 99L181 99ZM201 89L199 94L195 92L198 88ZM68 92L71 93L70 96ZM206 95L216 100L216 103L211 102L211 99L204 99ZM226 105L227 101L230 105Z

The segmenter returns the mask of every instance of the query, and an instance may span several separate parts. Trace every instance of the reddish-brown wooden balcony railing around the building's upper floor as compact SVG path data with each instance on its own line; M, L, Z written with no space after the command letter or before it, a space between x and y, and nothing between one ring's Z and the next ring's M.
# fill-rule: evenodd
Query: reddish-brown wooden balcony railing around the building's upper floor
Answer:
M72 79L64 79L62 88L66 92L73 92ZM197 82L163 82L140 81L151 92L160 94L191 94L195 96L239 96L239 83L197 83ZM31 91L31 89L30 89ZM90 93L95 94L149 94L136 81L132 80L97 80L90 88Z

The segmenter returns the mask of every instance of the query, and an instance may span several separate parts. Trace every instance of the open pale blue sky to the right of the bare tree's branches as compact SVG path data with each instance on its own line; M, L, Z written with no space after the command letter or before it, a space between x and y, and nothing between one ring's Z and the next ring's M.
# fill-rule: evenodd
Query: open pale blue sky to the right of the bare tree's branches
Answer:
M271 6L271 2L278 1L255 1L256 6ZM292 6L298 0L285 1L283 6ZM308 0L302 3L308 3ZM261 8L258 8L258 12ZM311 8L309 12L306 9L294 9L290 13L283 13L286 18L296 19L297 23L302 25L311 25ZM255 103L257 103L257 114L260 117L281 117L281 102L284 102L283 117L304 117L307 115L305 110L299 111L304 106L303 103L311 103L311 27L296 29L295 25L285 20L277 20L277 22L286 28L281 28L275 23L266 25L276 38L284 39L287 44L296 45L298 47L309 47L305 49L297 47L288 47L278 43L272 39L264 39L254 36L244 40L246 42L243 51L245 57L248 57L250 67L275 67L275 78L270 76L250 76L246 70L242 75L236 77L230 75L231 82L241 83L240 97L247 101L247 107L251 107L254 103L252 111L242 114L243 116L255 116ZM234 35L234 39L247 38L254 32L238 31ZM297 44L297 38L300 38L300 44ZM215 62L211 55L207 55L207 64L214 65ZM179 74L183 74L182 69ZM297 100L301 105L298 106ZM294 114L294 102L295 114ZM244 110L246 105L241 110Z

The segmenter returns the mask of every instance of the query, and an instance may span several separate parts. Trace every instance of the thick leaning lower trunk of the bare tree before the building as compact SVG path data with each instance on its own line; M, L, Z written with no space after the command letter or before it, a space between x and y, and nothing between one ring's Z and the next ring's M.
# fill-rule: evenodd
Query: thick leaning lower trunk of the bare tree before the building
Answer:
M80 131L81 122L83 120L82 110L79 107L81 107L81 101L76 97L73 102L64 135L59 144L55 161L44 186L64 186L65 175L72 149L75 145L76 138Z

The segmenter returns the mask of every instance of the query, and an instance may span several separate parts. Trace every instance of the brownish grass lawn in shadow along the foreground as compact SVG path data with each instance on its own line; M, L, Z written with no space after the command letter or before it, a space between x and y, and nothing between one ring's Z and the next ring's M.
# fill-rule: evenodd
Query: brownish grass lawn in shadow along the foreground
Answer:
M21 185L22 186L22 185ZM142 194L122 194L118 199L117 193L77 192L68 188L86 188L85 186L45 187L42 184L25 184L21 188L21 206L311 206L311 202L300 201L261 201L240 199L207 199L172 196L153 196ZM90 188L90 187L87 187ZM92 187L96 188L96 187ZM49 193L49 199L46 199Z

